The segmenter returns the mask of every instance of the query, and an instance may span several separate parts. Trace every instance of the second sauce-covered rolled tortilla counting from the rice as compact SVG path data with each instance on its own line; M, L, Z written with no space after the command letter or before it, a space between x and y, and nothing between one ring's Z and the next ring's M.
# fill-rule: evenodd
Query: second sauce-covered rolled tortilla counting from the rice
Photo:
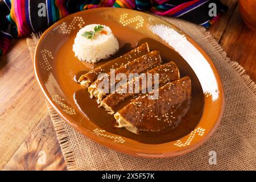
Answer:
M115 75L118 75L119 73L123 73L126 76L129 73L142 73L146 72L148 69L152 69L154 67L157 67L162 63L161 57L159 55L158 51L151 51L150 53L143 55L139 57L138 59L135 59L133 61L130 61L129 63L122 65L121 67L115 69ZM107 75L110 80L110 73ZM94 81L88 88L88 92L90 93L90 97L97 98L98 104L102 101L104 96L106 94L101 88L98 88L98 85L101 83L102 78L97 79ZM115 81L115 83L118 81ZM109 86L110 88L110 86Z

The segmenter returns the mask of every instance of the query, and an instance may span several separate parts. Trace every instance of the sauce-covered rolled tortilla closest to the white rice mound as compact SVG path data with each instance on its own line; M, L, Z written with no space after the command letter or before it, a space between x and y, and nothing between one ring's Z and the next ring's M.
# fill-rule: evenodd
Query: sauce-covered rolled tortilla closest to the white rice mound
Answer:
M149 52L150 50L148 48L148 44L144 43L141 46L133 49L132 51L127 52L125 55L117 57L112 61L108 61L108 63L105 63L100 67L94 68L88 73L80 76L79 82L82 86L88 88L92 82L97 80L97 77L100 73L108 73L110 72L110 69L118 68L122 64L126 64L128 61L133 61L134 59L146 55Z

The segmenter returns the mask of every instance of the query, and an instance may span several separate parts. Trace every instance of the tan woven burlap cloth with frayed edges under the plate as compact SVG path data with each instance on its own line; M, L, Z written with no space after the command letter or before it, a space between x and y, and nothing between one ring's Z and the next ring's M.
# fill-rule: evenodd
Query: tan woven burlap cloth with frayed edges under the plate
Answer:
M138 158L110 150L78 133L48 105L69 170L243 170L256 169L256 85L244 69L230 61L205 28L166 18L192 37L212 58L225 91L224 115L216 132L195 151L169 159ZM34 55L38 36L28 39ZM256 61L256 60L255 60ZM209 164L209 151L217 164Z

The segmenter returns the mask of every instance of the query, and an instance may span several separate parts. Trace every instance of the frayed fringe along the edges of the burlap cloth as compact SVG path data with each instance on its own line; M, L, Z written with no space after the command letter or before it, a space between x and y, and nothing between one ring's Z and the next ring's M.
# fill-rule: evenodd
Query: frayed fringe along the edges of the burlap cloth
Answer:
M238 73L238 75L241 76L242 80L245 82L245 84L249 87L251 92L256 94L256 84L253 80L251 80L250 76L246 74L245 69L236 61L231 61L229 57L227 57L226 52L222 49L220 44L213 38L213 36L206 30L206 28L202 26L196 26L199 31L209 40L209 43L218 51L221 56L226 60ZM38 43L38 40L40 36L42 35L41 32L38 34L32 33L32 39L27 38L27 44L28 49L30 50L32 60L34 60L34 52L36 48L36 44ZM79 167L77 166L75 156L72 151L71 146L71 140L69 139L69 135L67 132L67 129L65 128L65 123L63 122L63 119L56 113L56 111L51 107L51 105L48 104L46 101L47 108L49 115L51 117L53 126L55 128L55 132L57 135L57 139L60 143L61 152L63 153L65 162L67 164L68 170L79 170Z

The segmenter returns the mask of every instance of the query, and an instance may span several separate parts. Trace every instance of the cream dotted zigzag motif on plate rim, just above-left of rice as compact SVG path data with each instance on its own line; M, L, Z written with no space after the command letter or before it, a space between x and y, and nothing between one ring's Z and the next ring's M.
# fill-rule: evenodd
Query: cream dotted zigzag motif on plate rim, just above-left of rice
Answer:
M82 19L81 16L75 16L71 23L63 22L60 24L60 32L61 34L70 34L72 30L75 29L75 26L77 25L79 28L82 28L84 26L85 22Z

